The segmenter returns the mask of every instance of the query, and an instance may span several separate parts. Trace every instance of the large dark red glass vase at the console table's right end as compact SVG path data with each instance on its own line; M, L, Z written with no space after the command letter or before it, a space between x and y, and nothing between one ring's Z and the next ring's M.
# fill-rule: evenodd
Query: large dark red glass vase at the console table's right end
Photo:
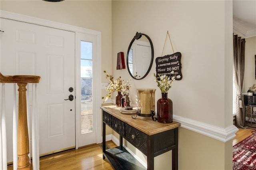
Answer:
M168 93L162 93L162 98L157 101L157 121L160 123L172 123L172 100L168 99Z

